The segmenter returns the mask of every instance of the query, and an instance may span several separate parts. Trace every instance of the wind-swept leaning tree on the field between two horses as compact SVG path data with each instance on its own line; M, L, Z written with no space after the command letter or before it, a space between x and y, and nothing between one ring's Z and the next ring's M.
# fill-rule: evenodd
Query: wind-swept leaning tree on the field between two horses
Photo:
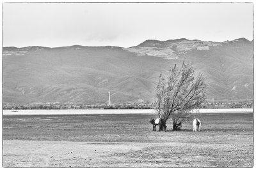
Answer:
M175 64L167 78L160 74L154 107L159 117L163 118L164 130L169 118L172 118L173 131L180 130L182 123L191 117L191 111L204 102L206 88L204 76L198 74L195 78L191 64L183 62L181 68Z

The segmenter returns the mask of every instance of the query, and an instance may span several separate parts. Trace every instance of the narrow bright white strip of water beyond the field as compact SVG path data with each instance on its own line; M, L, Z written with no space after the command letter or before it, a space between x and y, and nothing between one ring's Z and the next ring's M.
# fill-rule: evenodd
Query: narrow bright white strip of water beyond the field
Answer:
M155 114L155 110L4 110L3 115ZM252 108L200 109L200 113L252 113ZM196 111L194 111L196 113Z

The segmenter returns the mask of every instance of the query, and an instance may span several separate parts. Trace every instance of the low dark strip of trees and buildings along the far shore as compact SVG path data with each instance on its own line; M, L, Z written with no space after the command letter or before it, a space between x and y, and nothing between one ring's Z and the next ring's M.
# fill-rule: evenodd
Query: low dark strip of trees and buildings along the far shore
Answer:
M253 108L253 101L241 102L206 102L200 108ZM84 104L84 103L32 103L13 104L4 103L4 110L72 110L72 109L154 109L152 103L122 103L122 104Z

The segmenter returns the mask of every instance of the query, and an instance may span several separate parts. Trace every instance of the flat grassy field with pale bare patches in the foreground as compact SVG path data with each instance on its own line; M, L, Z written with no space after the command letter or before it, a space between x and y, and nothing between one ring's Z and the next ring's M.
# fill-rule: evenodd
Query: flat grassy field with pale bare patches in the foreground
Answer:
M152 114L5 115L4 167L252 167L253 113L198 115L152 132Z

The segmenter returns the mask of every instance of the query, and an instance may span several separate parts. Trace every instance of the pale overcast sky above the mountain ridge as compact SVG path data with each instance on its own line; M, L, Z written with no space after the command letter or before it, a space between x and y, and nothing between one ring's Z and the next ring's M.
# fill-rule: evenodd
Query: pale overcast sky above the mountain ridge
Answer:
M253 39L252 3L4 3L3 46L135 46Z

